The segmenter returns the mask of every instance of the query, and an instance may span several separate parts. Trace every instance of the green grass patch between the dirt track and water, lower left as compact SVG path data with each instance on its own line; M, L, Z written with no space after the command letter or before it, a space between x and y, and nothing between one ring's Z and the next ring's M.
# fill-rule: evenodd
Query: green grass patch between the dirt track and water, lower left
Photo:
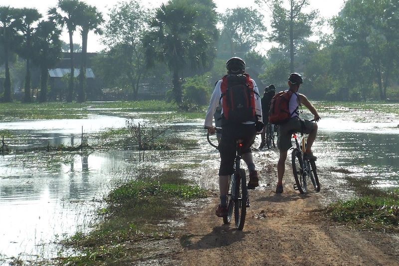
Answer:
M141 240L172 237L169 228L160 222L179 217L183 200L206 197L198 186L182 179L182 171L164 171L129 181L105 197L106 207L98 210L102 217L94 229L76 233L62 242L75 255L60 256L54 264L124 265L134 264L145 251Z

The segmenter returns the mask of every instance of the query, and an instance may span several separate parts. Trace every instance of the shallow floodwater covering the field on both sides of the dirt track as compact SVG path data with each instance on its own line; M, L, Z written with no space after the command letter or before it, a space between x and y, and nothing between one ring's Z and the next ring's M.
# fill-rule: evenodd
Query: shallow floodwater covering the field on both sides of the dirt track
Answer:
M88 136L126 126L127 115L115 115L113 110L108 110L108 114L104 114L107 110L101 112L84 120L0 122L2 130L16 136L6 140L9 149L18 150L2 155L0 160L0 263L1 259L7 261L11 257L34 260L36 256L56 256L52 242L78 230L88 230L93 211L99 207L97 200L115 183L135 178L146 167L184 169L195 183L217 189L219 156L206 142L201 119L159 123L168 127L170 136L192 139L198 145L187 150L146 151L144 162L139 162L137 151L129 149L56 154L24 151L46 145L78 146L82 126ZM129 116L145 121L140 113ZM323 189L336 191L345 176L370 179L381 189L399 187L398 117L345 110L324 112L321 117L314 146L319 158L321 193ZM254 147L259 146L259 141ZM276 162L278 156L277 150L254 154L257 162L265 164ZM323 179L323 171L333 172L336 179ZM263 188L271 189L265 183L274 184L275 180L268 177L262 182Z

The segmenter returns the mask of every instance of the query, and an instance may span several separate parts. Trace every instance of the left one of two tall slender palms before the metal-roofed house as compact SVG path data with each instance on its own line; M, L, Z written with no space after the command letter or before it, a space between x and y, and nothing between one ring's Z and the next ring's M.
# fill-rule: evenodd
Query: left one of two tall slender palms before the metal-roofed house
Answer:
M57 7L50 8L48 14L50 19L56 21L61 26L66 26L69 33L69 52L70 52L70 68L67 102L73 100L73 79L74 79L74 58L73 58L73 33L76 30L77 21L81 15L83 2L80 0L58 0Z

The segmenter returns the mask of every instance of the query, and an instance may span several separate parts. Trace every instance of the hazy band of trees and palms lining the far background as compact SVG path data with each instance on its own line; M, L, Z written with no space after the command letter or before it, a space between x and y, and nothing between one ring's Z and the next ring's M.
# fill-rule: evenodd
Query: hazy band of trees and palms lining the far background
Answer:
M308 0L255 2L255 8L217 13L212 0L169 0L148 10L138 0L130 0L111 7L103 23L94 6L82 0L58 0L49 8L48 19L56 25L55 35L64 29L70 36L70 71L63 78L65 88L59 91L47 91L43 70L57 65L59 56L44 58L33 46L35 39L42 38L36 35L45 18L34 8L0 6L1 100L82 102L86 95L89 100L172 95L182 107L187 102L203 104L231 56L247 62L259 86L273 83L282 89L288 74L296 71L305 78L301 91L313 99L399 100L396 0L348 0L328 24L309 8ZM264 14L271 18L267 29ZM332 33L318 31L322 25L330 26ZM75 31L81 33L82 60L74 69ZM94 89L86 88L84 78L89 31L103 33L107 45L89 66L101 81ZM275 45L260 54L264 39ZM57 44L52 49L56 55L65 47ZM43 60L47 66L41 66L39 82L34 75L40 76Z

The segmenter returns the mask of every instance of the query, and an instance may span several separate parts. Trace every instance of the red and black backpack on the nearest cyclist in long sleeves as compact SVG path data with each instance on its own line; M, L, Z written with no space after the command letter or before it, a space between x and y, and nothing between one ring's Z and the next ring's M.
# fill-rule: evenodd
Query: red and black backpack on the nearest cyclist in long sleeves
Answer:
M256 121L254 95L256 92L248 74L223 76L220 89L223 117L228 122Z

